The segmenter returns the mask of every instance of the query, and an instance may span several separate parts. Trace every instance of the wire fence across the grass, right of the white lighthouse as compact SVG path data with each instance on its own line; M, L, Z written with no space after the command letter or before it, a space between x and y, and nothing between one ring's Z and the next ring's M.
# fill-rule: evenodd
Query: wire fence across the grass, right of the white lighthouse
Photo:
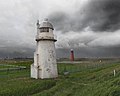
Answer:
M100 61L100 62L62 62L58 63L58 72L61 75L67 75L69 73L75 73L75 72L81 72L84 70L91 70L91 69L100 69L100 68L106 68L115 64L120 64L119 61Z

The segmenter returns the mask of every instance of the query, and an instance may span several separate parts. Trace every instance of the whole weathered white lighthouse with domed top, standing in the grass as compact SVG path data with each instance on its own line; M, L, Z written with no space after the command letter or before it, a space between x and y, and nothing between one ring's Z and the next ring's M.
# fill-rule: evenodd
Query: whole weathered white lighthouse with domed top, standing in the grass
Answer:
M31 65L31 77L32 78L56 78L58 77L55 42L53 34L53 25L44 19L39 24L37 22L37 46L34 53L34 64Z

